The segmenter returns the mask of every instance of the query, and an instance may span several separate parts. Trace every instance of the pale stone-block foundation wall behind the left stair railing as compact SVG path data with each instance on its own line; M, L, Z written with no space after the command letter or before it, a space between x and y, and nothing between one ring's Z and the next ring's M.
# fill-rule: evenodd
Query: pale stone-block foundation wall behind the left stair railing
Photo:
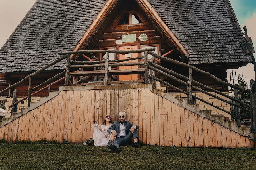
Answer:
M18 97L17 100L21 100L22 97ZM31 102L39 102L40 97L31 97ZM6 108L5 108L5 117L10 117L11 115L11 108L9 110L9 106L12 104L13 98L7 98L6 100ZM21 108L27 108L28 107L28 99L23 101L24 103L21 104L22 102L18 103L18 109L17 112L21 112ZM9 110L9 113L8 113Z

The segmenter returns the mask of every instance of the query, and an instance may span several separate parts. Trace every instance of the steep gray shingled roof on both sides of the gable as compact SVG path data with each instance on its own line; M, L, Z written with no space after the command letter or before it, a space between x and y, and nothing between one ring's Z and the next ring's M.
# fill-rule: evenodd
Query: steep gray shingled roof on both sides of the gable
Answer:
M0 50L0 72L34 71L71 51L106 0L37 0ZM149 0L190 54L189 64L250 62L229 0ZM64 62L49 69L63 69Z

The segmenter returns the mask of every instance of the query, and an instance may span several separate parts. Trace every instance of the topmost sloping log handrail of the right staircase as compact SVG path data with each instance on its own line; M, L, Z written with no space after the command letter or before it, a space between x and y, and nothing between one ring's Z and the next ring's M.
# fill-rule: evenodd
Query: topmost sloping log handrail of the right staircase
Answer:
M233 87L234 89L238 89L238 90L243 91L243 92L246 92L246 93L250 93L249 90L243 89L243 88L241 88L241 87L236 87L235 85L232 85L232 84L230 84L230 83L228 83L228 82L226 82L226 81L223 81L223 80L219 79L218 77L215 77L214 75L210 74L209 72L205 72L205 71L203 71L203 70L200 70L199 68L196 68L195 66L192 66L192 65L189 65L189 64L186 64L186 63L177 61L177 60L173 60L173 59L171 59L171 58L167 58L167 57L160 56L160 55L158 55L158 54L156 54L156 53L154 53L154 52L152 52L152 51L148 51L148 53L151 54L151 55L153 55L153 56L155 56L156 58L159 58L159 59L164 60L164 61L167 61L167 62L171 62L171 63L176 64L176 65L179 65L179 66L184 66L184 67L187 67L187 68L190 68L190 67L191 67L194 71L196 71L196 72L198 72L198 73L201 73L201 74L203 74L203 75L206 75L206 76L208 76L208 77L211 77L212 79L216 80L216 81L219 82L219 83L222 83L222 84L224 84L224 85L228 85L228 86L230 86L230 87Z

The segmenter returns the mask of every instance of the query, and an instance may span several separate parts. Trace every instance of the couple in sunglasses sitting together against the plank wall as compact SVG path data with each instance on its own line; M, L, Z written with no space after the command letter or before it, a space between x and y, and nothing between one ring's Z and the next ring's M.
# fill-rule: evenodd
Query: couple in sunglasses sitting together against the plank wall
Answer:
M103 125L92 125L90 140L84 144L106 146L113 152L121 152L120 145L130 145L133 138L134 142L131 146L139 147L137 143L139 127L125 121L125 115L125 112L119 113L118 121L114 121L113 124L111 116L106 115Z

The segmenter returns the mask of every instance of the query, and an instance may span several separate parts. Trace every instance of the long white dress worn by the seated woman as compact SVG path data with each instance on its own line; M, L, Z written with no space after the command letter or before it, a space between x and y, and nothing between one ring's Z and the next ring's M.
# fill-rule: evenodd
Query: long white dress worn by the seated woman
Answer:
M108 141L110 140L110 137L112 134L108 135L107 138L105 138L105 135L108 133L107 130L112 124L105 126L105 125L100 125L101 131L99 131L98 124L92 125L94 127L94 146L107 146Z

